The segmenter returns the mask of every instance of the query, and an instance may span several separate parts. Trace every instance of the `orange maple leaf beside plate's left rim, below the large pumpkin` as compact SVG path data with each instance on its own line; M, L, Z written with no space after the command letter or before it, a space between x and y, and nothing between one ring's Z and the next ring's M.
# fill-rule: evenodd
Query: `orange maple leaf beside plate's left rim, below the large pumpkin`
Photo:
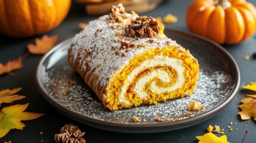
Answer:
M57 39L58 35L53 35L50 37L44 35L41 39L36 38L35 44L28 44L27 49L29 49L29 52L32 54L45 54L54 47Z

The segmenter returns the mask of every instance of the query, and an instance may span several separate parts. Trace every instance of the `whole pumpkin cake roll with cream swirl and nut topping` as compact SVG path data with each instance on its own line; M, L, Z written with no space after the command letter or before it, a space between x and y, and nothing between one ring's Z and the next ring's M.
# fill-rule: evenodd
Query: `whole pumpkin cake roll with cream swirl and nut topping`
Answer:
M68 60L112 111L183 98L196 87L198 61L163 31L119 4L73 38Z

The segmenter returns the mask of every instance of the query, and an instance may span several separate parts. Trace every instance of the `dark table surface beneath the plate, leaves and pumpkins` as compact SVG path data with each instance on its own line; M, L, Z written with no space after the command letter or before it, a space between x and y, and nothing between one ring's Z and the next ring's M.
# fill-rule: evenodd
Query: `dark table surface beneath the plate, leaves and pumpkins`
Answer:
M251 0L252 4L256 5L256 1ZM165 28L178 29L189 32L185 22L186 9L192 0L171 0L164 1L155 10L140 15L151 15L152 17L164 17L166 14L173 14L178 17L178 22L174 24L166 24ZM63 23L60 24L54 30L51 30L47 35L58 35L57 43L64 41L65 39L72 38L76 33L80 31L78 24L81 22L88 22L97 17L86 15L83 7L78 4L72 4L69 15ZM26 45L33 43L35 38L41 38L42 35L34 36L32 38L25 39L13 39L7 36L0 35L0 62L7 63L9 60L18 58L19 55L27 53ZM256 60L250 58L245 60L245 55L250 55L256 52L256 36L252 36L247 41L240 42L236 45L223 45L227 51L235 58L239 69L241 82L240 85L245 85L251 81L256 81ZM59 133L60 127L74 123L86 132L85 139L87 142L198 142L196 136L201 136L206 133L208 125L223 125L221 128L225 129L225 135L229 142L242 142L245 136L245 131L249 130L245 142L256 142L256 122L253 119L241 120L238 112L240 111L237 105L240 104L241 98L245 97L245 94L241 92L242 88L239 88L235 99L211 119L208 119L202 123L199 123L189 128L173 130L169 132L161 133L118 133L110 132L106 130L92 128L87 125L82 125L69 117L59 113L47 101L44 100L39 93L36 86L35 71L36 66L42 55L29 54L23 60L23 67L14 71L17 76L11 76L10 74L0 75L0 90L13 89L21 87L23 88L19 95L25 95L20 101L15 101L14 104L25 104L29 102L29 107L26 111L32 111L36 113L45 113L44 116L35 120L23 121L25 123L24 130L12 129L3 138L0 138L0 142L54 142L54 134ZM1 104L1 107L10 104ZM230 126L230 122L233 122L233 131L230 132L227 126ZM235 126L234 123L237 125ZM238 128L238 130L236 130ZM39 132L43 132L42 135ZM220 135L218 135L220 136Z

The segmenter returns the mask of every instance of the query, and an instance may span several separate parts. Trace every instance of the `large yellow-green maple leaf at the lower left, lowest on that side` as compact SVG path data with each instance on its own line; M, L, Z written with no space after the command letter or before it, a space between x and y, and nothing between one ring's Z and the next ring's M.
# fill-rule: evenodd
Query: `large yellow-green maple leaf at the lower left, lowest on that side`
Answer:
M2 108L0 111L0 138L5 136L11 129L22 130L25 125L20 122L21 120L33 120L43 115L23 112L28 105L29 104L27 103L24 105L11 105Z

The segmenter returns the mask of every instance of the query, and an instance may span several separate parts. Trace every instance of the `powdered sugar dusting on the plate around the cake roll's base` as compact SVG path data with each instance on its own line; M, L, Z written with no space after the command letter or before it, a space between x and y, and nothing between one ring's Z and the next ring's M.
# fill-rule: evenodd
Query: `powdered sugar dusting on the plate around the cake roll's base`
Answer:
M42 83L45 92L67 110L113 123L147 124L158 123L155 120L158 116L162 119L189 117L186 112L190 101L199 101L205 107L203 111L193 111L192 114L196 116L220 105L234 88L231 83L232 78L226 71L214 69L208 72L201 68L198 85L190 97L159 102L156 105L141 105L131 109L109 111L65 60L66 57L45 74ZM75 85L69 85L69 80L75 80ZM66 88L70 88L71 92L65 92ZM134 116L141 119L141 122L132 122L131 118Z

